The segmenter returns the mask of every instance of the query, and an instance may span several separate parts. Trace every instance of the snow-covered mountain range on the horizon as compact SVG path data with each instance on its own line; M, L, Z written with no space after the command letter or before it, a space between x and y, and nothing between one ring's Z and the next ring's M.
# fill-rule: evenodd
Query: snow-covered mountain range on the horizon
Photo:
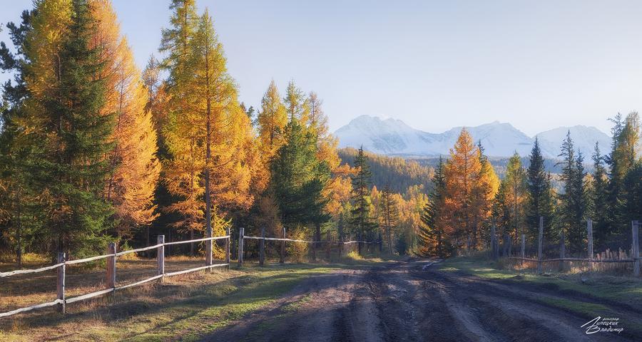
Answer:
M526 156L531 152L534 137L522 133L509 123L487 123L476 127L467 127L475 141L481 140L486 155L491 157L509 157L515 151ZM427 133L405 124L402 120L382 120L370 115L361 115L339 128L335 135L339 138L340 147L360 147L383 155L434 156L445 155L457 141L462 128L452 128L444 133ZM606 152L610 138L597 128L574 126L556 128L539 133L537 137L545 157L559 155L559 147L571 131L571 138L576 149L588 156L598 141L601 150Z

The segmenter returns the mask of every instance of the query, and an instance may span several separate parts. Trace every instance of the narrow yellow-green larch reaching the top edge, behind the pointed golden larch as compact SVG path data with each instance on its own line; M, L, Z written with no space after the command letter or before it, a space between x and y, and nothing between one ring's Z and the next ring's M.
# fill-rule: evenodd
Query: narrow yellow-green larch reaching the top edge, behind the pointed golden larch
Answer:
M204 204L201 172L205 155L198 153L198 129L190 124L195 113L190 108L191 84L195 61L192 40L198 29L194 0L173 0L170 28L164 28L159 51L165 54L161 66L168 71L166 82L168 105L163 140L167 157L163 159L163 182L178 200L163 208L176 212L180 218L171 225L175 229L194 232L203 227ZM190 254L193 254L193 244Z

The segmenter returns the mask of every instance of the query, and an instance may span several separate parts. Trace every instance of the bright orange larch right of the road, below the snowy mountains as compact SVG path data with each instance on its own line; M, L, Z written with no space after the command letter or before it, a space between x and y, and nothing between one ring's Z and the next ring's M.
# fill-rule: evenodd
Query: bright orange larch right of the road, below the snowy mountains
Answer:
M479 148L463 128L457 142L450 149L446 162L446 211L453 230L454 245L462 247L464 239L472 239L475 206L473 194L481 172Z

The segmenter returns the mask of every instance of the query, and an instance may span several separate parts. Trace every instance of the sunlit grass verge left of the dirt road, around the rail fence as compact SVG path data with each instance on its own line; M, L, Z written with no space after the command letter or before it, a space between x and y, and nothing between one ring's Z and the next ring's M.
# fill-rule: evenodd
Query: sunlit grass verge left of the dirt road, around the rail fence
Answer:
M119 261L118 283L127 284L153 275L155 262ZM379 262L379 259L346 258L342 264L267 267L248 264L243 269L233 266L229 271L215 269L211 273L167 277L163 284L137 286L100 299L69 304L65 315L47 308L0 318L0 341L165 341L175 336L193 341L270 304L308 276ZM202 263L200 259L170 258L166 271ZM101 289L103 278L101 269L72 270L68 276L68 296ZM55 299L55 275L51 273L25 275L24 279L2 284L2 312Z

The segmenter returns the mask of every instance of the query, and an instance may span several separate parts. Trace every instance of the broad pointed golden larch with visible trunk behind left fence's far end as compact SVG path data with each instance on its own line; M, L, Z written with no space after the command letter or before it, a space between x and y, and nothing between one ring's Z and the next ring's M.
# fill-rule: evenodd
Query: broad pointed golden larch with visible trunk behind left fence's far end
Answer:
M193 237L195 231L223 234L225 214L252 204L257 154L250 120L238 103L208 11L192 24L189 58L173 67L180 70L173 69L178 86L170 96L182 98L173 105L165 128L170 153L165 182L170 193L180 197L168 207L183 217L175 227Z

